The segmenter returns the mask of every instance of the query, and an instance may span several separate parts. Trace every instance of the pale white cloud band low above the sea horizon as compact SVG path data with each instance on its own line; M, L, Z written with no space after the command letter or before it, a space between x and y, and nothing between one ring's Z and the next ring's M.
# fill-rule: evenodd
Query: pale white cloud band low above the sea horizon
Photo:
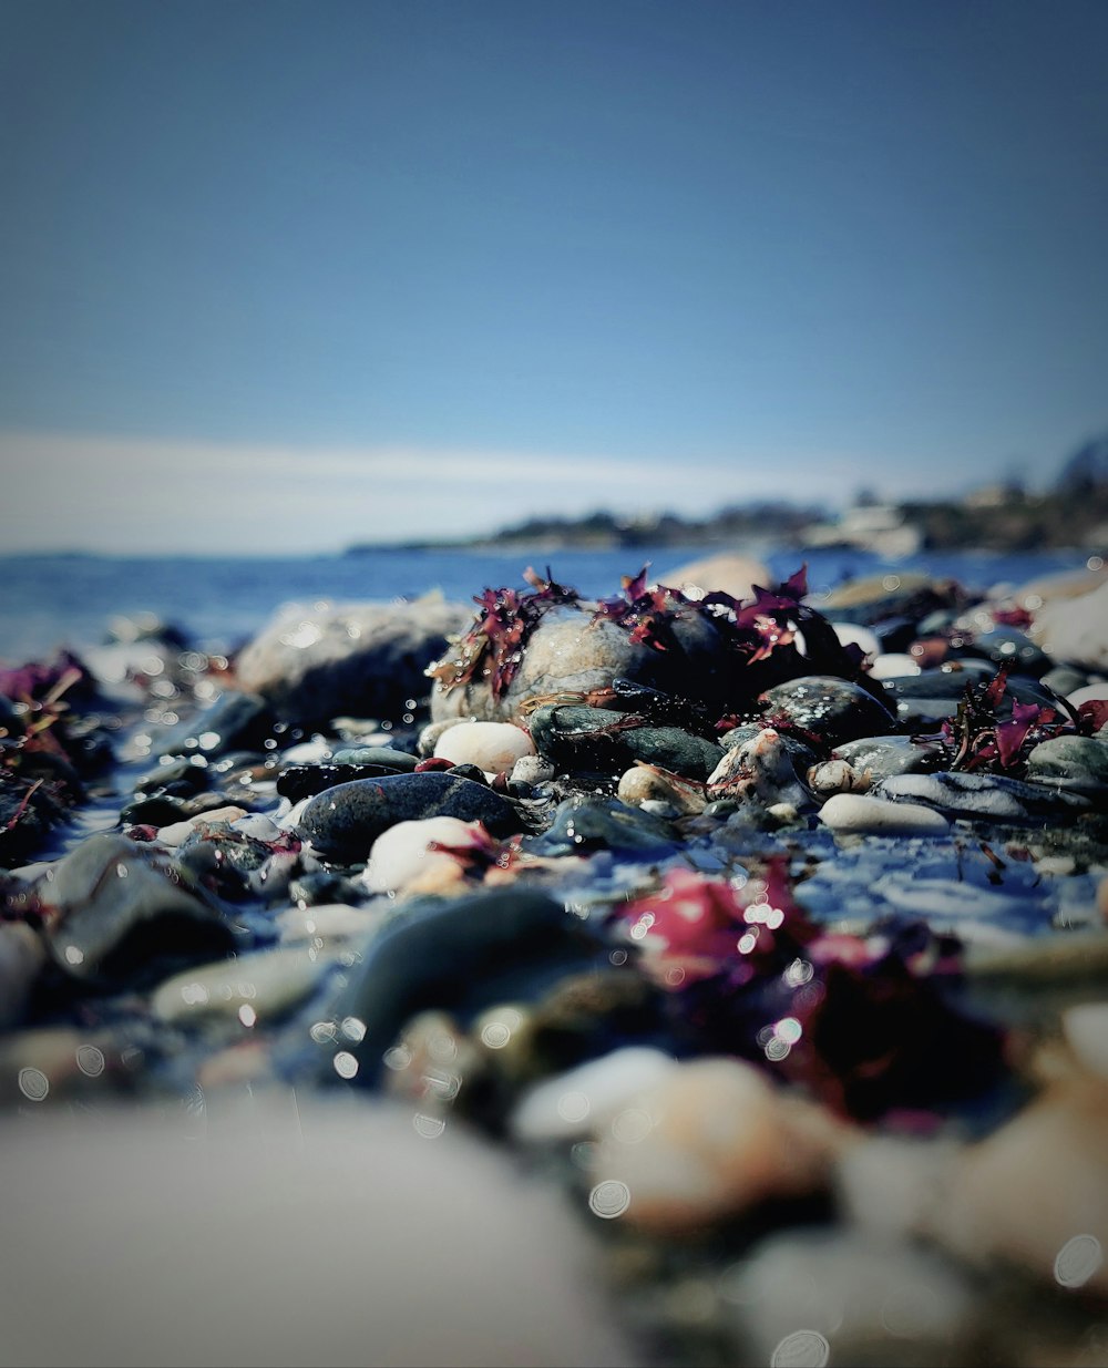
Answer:
M3 550L226 554L466 536L536 513L704 513L836 498L851 462L613 460L405 446L313 449L0 432Z

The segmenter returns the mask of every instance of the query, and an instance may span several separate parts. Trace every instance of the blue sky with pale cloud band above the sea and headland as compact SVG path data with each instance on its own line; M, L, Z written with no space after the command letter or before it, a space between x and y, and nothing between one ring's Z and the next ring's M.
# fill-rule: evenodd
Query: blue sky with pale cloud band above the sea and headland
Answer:
M1037 482L1108 5L4 0L5 549Z

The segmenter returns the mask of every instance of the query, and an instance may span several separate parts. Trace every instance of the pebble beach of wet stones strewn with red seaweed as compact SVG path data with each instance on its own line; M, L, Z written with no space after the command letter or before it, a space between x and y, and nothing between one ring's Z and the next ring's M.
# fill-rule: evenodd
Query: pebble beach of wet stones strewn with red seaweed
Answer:
M669 580L0 674L0 1361L1108 1363L1108 577Z

